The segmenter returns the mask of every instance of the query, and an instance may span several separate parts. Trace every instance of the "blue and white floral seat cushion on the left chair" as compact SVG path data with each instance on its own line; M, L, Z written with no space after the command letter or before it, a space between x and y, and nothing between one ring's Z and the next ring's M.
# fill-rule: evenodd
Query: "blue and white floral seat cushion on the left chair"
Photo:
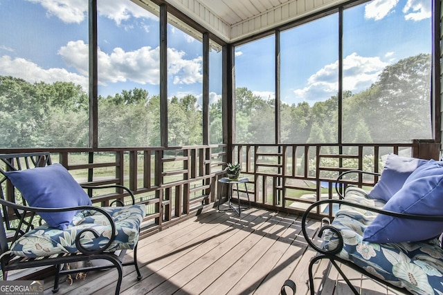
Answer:
M138 229L143 217L145 217L145 205L102 207L102 209L105 209L112 216L116 224L116 238L106 251L134 249L138 242ZM75 247L75 236L83 229L95 229L99 234L98 238L95 238L90 231L82 234L80 243L89 250L100 249L100 245L106 244L111 236L109 220L102 213L94 210L83 210L75 214L71 225L67 229L56 229L44 224L19 238L11 245L10 249L12 254L21 257L79 253L77 247Z

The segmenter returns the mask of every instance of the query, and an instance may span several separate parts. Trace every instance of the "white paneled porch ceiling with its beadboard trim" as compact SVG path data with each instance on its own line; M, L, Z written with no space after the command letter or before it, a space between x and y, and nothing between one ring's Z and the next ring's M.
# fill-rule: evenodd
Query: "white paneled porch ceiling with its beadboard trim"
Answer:
M345 2L345 0L166 1L228 43Z

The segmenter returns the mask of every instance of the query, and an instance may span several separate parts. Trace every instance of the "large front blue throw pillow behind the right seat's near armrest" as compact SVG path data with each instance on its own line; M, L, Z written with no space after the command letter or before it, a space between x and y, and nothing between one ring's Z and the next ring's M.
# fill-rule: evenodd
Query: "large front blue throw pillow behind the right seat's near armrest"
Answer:
M399 213L443 216L443 162L430 160L410 174L383 209ZM368 242L415 242L435 238L443 222L394 218L379 214L365 229Z

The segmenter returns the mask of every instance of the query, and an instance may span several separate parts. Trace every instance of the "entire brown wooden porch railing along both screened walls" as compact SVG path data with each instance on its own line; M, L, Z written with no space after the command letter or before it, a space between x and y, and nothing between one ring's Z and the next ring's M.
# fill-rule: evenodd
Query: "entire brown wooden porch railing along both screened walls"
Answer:
M388 153L436 158L440 144L226 144L182 147L100 149L0 149L0 153L49 151L81 184L122 184L145 204L142 236L212 208L218 200L218 180L226 162L239 162L253 206L302 213L316 200L336 198L334 180L341 171L361 169L380 172ZM426 153L423 153L426 151ZM345 179L349 184L371 187L377 177ZM91 193L91 192L90 192ZM226 192L222 193L226 196ZM242 201L246 189L239 188ZM111 198L127 201L123 191L93 196L101 206ZM321 208L318 216L331 215Z

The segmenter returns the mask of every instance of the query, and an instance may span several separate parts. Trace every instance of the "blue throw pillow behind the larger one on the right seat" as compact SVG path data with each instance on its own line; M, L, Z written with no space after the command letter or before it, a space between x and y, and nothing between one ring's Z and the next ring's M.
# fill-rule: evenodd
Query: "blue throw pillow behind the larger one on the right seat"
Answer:
M409 177L417 167L428 162L417 158L401 157L391 153L386 159L385 167L381 172L380 180L375 184L369 196L373 199L388 202L397 191L403 187L406 178Z

